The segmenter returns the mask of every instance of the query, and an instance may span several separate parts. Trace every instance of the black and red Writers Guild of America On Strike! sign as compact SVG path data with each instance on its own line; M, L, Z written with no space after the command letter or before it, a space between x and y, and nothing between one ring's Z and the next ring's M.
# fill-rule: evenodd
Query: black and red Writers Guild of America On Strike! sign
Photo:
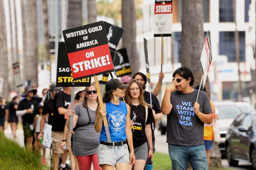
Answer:
M114 71L103 21L62 33L74 79Z

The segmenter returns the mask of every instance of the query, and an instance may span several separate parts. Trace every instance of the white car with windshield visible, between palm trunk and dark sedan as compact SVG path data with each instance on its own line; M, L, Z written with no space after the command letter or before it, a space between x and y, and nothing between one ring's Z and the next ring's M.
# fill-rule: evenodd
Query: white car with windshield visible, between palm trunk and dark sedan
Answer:
M233 101L216 101L214 102L215 107L219 111L219 132L220 132L220 152L223 157L226 155L226 134L231 123L234 121L237 115L241 114L241 111L236 107Z

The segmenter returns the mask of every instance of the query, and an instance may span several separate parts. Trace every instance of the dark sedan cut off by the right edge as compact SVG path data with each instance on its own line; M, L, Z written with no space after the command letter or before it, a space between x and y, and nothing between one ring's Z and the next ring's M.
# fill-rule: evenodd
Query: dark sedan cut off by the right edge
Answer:
M230 125L226 135L226 155L230 166L238 161L252 163L256 170L256 113L242 113Z

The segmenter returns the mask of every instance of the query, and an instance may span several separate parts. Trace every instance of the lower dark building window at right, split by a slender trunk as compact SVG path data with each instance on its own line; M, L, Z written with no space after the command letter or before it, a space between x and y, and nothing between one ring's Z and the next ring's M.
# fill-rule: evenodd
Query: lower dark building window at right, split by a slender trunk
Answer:
M235 32L223 31L219 33L219 54L227 55L228 62L236 62ZM240 62L245 61L245 32L239 31Z

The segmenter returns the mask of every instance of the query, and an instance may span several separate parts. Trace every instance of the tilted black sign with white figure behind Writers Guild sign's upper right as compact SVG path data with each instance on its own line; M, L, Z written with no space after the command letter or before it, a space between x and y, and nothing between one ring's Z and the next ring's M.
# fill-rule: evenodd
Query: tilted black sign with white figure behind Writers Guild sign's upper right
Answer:
M109 49L116 51L116 47L124 33L124 28L109 24L105 21L103 21L103 23L106 30Z

